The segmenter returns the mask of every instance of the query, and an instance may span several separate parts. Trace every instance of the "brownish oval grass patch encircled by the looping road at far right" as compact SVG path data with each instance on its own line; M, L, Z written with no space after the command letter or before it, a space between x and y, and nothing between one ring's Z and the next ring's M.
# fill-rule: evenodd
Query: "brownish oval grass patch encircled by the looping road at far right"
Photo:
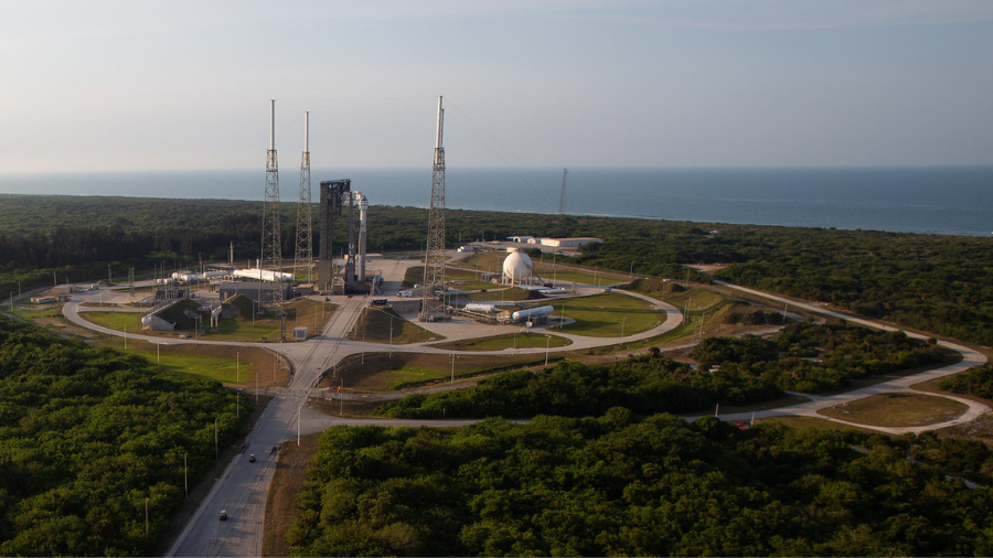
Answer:
M818 414L869 428L916 427L947 422L968 409L965 404L933 395L886 394L821 409Z

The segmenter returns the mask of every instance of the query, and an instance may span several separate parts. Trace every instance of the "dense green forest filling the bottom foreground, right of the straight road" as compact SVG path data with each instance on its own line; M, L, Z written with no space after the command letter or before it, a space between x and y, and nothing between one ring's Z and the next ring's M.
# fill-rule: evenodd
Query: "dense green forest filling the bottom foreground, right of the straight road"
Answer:
M989 556L991 490L911 461L944 446L623 408L334 427L288 541L297 556Z

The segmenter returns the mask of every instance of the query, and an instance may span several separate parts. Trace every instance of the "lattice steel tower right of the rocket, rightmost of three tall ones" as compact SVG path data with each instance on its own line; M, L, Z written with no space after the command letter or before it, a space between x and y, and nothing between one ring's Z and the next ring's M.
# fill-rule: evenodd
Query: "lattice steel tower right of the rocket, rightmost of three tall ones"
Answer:
M435 292L445 290L445 148L441 147L441 129L445 110L438 97L438 133L435 139L435 164L431 176L431 208L428 211L428 240L424 255L424 296L420 321L431 321L445 315L445 303Z

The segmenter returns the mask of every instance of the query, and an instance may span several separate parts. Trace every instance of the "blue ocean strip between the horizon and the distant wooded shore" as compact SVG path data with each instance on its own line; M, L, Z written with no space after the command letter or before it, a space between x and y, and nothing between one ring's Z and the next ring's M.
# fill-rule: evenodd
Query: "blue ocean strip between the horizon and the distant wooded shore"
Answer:
M374 205L426 207L431 170L313 169L351 179ZM449 208L557 214L562 169L459 169L446 173ZM299 195L299 169L279 175ZM0 175L0 193L261 200L265 170ZM314 195L314 201L317 196ZM993 167L857 169L569 169L565 213L986 236Z

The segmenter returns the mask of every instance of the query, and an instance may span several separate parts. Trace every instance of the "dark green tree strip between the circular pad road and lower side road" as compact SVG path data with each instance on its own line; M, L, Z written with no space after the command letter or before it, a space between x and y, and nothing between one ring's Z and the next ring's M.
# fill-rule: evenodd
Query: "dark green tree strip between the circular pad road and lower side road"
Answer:
M377 412L394 418L589 417L611 407L639 415L692 412L766 401L783 390L839 389L856 378L944 357L938 345L901 332L813 323L790 324L772 339L708 337L693 356L701 363L696 369L658 350L609 365L560 362L538 372L501 373L469 389L410 395Z

